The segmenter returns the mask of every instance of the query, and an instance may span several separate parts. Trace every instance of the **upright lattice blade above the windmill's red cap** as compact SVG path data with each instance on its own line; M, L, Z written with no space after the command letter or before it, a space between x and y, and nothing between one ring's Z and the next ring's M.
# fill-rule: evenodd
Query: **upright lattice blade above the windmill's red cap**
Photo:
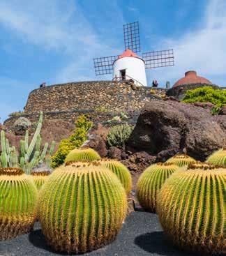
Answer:
M139 22L124 24L123 32L125 50L130 49L133 52L140 52Z

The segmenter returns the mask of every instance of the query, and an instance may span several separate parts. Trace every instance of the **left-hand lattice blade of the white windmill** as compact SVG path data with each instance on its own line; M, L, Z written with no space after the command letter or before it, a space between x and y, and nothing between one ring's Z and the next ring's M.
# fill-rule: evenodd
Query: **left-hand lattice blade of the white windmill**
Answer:
M100 57L93 59L96 75L107 75L113 73L113 62L119 58L119 55L110 57Z

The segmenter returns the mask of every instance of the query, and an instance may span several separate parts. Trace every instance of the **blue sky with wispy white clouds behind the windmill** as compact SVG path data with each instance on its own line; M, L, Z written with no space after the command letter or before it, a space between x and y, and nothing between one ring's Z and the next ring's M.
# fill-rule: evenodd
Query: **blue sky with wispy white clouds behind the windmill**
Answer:
M111 79L95 76L93 57L121 54L122 26L137 20L142 52L174 49L176 65L147 70L149 83L192 69L226 85L225 0L1 0L0 121L42 82Z

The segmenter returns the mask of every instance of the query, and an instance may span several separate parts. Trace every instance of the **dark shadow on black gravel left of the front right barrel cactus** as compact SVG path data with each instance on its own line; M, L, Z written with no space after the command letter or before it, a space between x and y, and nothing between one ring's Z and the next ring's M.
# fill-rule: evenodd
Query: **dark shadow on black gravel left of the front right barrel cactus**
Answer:
M141 234L135 238L135 244L148 253L156 253L164 256L190 256L169 244L165 240L162 231Z

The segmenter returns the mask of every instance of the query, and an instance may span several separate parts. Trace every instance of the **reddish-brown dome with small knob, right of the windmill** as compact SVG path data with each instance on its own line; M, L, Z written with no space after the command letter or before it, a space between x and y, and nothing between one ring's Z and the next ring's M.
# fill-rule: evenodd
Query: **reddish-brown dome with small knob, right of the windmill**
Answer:
M204 77L197 76L196 71L188 71L185 73L185 77L178 80L173 87L176 87L182 84L212 84L212 83Z

